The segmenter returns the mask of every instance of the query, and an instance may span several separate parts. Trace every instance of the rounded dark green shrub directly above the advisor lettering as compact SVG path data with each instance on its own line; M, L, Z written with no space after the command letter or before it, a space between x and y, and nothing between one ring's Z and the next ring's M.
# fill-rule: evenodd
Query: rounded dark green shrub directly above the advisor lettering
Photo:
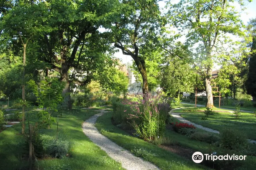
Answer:
M220 146L230 150L243 150L247 148L246 134L235 128L223 128L220 131Z

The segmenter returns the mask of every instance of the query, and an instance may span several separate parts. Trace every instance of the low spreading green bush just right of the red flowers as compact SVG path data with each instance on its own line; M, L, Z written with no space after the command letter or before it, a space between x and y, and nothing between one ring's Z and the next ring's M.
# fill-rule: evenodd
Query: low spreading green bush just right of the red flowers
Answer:
M190 138L201 142L207 142L210 144L220 141L219 136L204 132L195 132L190 135Z

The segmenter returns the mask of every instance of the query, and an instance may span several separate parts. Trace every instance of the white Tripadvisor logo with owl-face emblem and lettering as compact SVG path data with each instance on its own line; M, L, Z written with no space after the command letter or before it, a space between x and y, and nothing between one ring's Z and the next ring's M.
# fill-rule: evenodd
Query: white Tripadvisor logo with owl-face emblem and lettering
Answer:
M192 160L195 163L201 163L203 160L211 160L211 161L216 161L216 160L245 160L246 155L216 155L216 152L213 152L212 154L202 154L201 152L195 152L192 155Z

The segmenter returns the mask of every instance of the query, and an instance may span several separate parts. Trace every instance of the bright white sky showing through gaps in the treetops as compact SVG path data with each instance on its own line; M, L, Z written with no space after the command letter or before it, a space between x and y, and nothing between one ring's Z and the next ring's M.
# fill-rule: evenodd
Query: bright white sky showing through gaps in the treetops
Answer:
M178 3L179 0L173 0L173 3ZM159 7L164 8L165 3L164 2L159 2ZM241 7L238 5L238 3L235 3L234 6L237 8L238 11L241 11ZM256 0L253 0L251 3L246 2L245 5L246 9L241 12L241 20L245 25L249 22L251 18L256 18ZM124 64L127 62L132 63L133 59L131 56L123 55L122 51L119 50L119 52L116 52L114 54L115 57L119 58ZM214 66L215 69L219 69L217 65Z

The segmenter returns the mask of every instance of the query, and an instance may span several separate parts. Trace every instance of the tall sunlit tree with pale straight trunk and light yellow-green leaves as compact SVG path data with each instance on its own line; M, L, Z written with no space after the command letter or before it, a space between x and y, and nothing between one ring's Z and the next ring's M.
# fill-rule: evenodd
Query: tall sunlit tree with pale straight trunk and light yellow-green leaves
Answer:
M233 1L181 0L177 4L168 3L168 12L171 23L179 30L188 33L187 44L198 44L195 65L204 75L205 91L207 95L206 107L213 107L211 75L214 57L219 51L219 46L228 40L227 33L243 36L241 28L243 23L239 13L233 6ZM243 1L238 1L243 6Z

